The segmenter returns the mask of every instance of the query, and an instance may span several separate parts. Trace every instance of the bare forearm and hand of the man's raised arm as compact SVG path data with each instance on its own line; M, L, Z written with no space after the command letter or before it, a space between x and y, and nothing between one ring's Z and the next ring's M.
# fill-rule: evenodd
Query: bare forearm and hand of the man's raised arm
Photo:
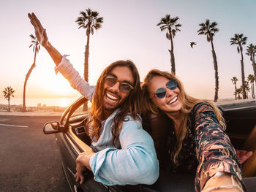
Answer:
M50 57L53 59L56 66L58 66L62 58L61 53L59 53L59 51L50 44L46 34L46 29L42 27L42 24L40 23L34 12L32 12L31 14L29 13L28 15L31 24L34 26L34 32L36 34L38 42L40 43L40 45L42 45L42 47L45 47L45 50L48 51Z

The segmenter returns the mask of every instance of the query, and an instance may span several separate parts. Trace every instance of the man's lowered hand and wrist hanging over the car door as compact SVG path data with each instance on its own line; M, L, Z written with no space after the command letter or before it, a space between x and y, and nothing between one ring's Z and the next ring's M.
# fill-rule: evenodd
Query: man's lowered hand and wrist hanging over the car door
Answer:
M76 160L77 166L76 166L76 174L75 174L75 180L76 182L79 182L80 184L83 184L84 177L83 177L83 170L85 168L89 169L91 171L91 166L90 166L90 158L92 155L94 155L94 152L83 152L78 155L78 158Z

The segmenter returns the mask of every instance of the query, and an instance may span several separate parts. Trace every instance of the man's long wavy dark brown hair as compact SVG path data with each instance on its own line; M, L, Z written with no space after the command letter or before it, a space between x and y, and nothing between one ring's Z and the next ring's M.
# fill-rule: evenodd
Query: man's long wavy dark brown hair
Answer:
M131 72L134 79L133 87L134 89L129 92L127 98L118 106L118 113L113 118L113 127L111 129L113 139L112 143L116 146L119 134L121 131L122 123L124 117L129 113L134 119L138 119L138 115L140 115L140 103L139 99L141 96L141 89L140 89L140 75L138 73L138 69L132 61L116 61L110 64L100 75L99 80L97 81L97 85L95 88L94 98L92 100L91 105L91 119L87 123L86 132L91 137L92 141L97 142L100 136L100 131L102 129L102 120L104 115L104 107L103 107L103 96L104 96L104 83L105 83L105 76L110 74L110 72L116 66L127 66ZM89 126L90 124L90 126ZM91 127L91 128L89 128Z

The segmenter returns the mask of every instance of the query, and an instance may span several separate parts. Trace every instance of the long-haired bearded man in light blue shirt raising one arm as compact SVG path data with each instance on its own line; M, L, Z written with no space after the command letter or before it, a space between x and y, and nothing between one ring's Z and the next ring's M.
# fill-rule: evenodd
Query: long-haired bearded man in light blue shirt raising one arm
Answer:
M84 181L83 169L105 185L153 184L159 175L154 142L140 120L140 77L132 61L116 61L101 74L96 87L83 80L66 58L48 41L45 28L34 13L29 14L35 34L61 72L92 102L86 133L94 153L77 158L77 182ZM150 176L150 177L148 177Z

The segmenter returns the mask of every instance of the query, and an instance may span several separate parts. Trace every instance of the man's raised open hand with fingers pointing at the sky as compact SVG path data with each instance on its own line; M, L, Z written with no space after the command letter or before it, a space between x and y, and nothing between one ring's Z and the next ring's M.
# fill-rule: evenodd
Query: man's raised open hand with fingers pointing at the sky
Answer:
M29 13L28 15L31 24L34 26L34 32L36 34L38 42L42 45L42 47L46 47L49 43L46 29L42 27L42 24L40 23L34 12L32 12L31 14Z

